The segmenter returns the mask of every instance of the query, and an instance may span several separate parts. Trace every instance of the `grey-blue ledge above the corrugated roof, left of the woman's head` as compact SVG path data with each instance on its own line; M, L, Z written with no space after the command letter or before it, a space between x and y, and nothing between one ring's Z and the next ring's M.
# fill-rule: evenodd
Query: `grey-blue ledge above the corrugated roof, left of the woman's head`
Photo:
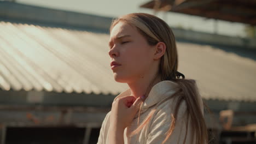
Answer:
M13 2L0 2L0 18L80 28L97 28L102 31L108 31L113 19L112 17L75 13Z

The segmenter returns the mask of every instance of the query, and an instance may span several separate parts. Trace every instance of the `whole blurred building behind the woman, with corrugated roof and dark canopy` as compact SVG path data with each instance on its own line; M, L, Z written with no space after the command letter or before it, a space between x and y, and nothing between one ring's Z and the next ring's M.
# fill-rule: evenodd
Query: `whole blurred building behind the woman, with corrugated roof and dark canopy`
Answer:
M213 33L171 29L178 69L197 81L212 112L205 110L211 142L256 143L256 1L223 2L146 1L136 7L155 15L162 10L164 20L173 11L249 24L248 37L219 34L217 25ZM0 1L1 143L96 143L113 99L128 88L114 81L109 67L112 19Z

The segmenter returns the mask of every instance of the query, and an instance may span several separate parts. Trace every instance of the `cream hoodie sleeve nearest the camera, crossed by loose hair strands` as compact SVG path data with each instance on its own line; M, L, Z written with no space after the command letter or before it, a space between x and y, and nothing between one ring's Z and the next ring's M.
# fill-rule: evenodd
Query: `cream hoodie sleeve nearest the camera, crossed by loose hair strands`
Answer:
M165 143L183 143L187 124L187 115L185 115L186 109L187 106L185 105L185 101L182 101L177 114L175 128L172 135L168 137ZM149 127L149 134L146 142L147 144L161 144L165 140L166 132L171 125L171 113L174 113L174 111L170 104L166 104L165 106L161 107L161 109L156 113ZM190 126L190 123L188 123L188 133L185 143L191 144L191 133L189 133L191 129Z

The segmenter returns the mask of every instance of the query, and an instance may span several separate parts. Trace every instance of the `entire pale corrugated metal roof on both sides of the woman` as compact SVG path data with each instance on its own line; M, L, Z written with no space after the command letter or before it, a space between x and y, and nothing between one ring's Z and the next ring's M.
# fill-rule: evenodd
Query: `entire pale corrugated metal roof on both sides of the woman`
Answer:
M0 87L5 91L118 94L108 34L0 22ZM179 71L197 80L202 97L255 101L256 62L210 45L177 43Z

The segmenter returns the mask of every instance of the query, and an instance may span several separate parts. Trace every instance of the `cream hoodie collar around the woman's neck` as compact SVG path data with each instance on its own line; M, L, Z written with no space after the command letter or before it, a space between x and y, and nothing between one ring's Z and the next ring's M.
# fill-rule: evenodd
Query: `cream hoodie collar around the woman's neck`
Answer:
M148 97L144 100L144 103L142 104L142 107L141 107L141 113L146 111L150 106L153 106L159 103L161 100L166 99L167 97L170 97L170 94L172 95L173 93L175 93L178 90L178 88L179 86L177 83L169 80L160 81L156 83L150 90ZM120 93L117 97L115 97L115 99L125 97L127 95L131 95L130 88Z

